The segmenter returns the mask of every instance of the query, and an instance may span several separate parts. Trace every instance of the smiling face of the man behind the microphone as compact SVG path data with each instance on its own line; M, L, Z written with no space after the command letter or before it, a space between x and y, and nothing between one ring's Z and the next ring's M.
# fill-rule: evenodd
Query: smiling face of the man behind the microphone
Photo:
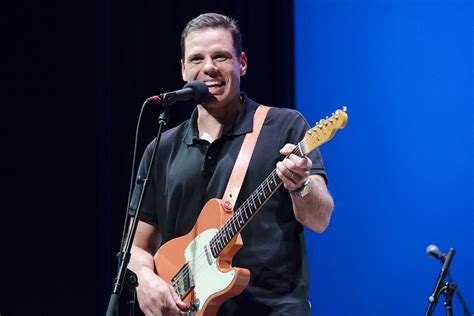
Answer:
M232 35L223 28L191 32L185 40L181 60L185 81L201 80L209 87L211 98L206 107L219 107L238 99L240 77L247 72L247 57L237 57Z

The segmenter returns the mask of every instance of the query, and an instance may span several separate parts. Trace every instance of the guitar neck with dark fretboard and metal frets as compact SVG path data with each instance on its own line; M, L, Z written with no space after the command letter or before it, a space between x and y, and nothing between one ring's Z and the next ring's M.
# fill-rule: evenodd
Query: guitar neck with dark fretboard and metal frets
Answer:
M298 156L304 156L302 142L298 143L292 152ZM234 212L231 218L222 226L219 232L210 241L210 249L215 258L239 234L250 220L257 214L265 202L278 190L282 181L276 173L276 169L253 191L244 203Z

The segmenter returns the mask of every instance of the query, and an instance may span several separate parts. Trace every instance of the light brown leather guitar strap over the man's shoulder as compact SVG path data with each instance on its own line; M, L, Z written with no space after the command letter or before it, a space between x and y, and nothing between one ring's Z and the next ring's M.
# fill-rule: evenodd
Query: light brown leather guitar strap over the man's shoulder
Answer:
M257 143L258 135L262 129L263 122L267 116L267 112L270 109L268 106L260 105L255 111L253 117L253 130L245 135L244 142L240 148L239 156L234 164L234 169L227 183L227 188L224 193L222 200L224 201L224 208L227 211L232 211L239 195L240 188L244 182L245 174L249 166L250 158Z

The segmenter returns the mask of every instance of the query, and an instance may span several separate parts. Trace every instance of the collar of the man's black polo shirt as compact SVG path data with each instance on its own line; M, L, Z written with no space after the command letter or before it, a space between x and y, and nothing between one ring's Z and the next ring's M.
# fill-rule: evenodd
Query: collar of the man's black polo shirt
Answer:
M253 130L253 116L258 104L255 101L251 100L245 92L241 92L240 96L243 100L242 108L240 109L239 115L237 116L234 125L225 134L226 136L243 135ZM196 108L191 114L191 118L188 121L186 132L183 137L183 141L187 145L192 145L194 140L199 139L197 129L197 115L198 111Z

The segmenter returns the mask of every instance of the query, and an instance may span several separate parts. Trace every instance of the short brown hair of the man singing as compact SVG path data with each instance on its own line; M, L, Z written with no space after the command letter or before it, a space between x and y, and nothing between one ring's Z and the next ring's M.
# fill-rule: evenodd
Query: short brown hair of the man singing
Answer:
M234 41L234 49L237 56L242 54L242 34L240 33L237 20L218 13L203 13L188 22L181 33L181 57L184 59L185 41L189 33L208 28L223 28L228 30Z

